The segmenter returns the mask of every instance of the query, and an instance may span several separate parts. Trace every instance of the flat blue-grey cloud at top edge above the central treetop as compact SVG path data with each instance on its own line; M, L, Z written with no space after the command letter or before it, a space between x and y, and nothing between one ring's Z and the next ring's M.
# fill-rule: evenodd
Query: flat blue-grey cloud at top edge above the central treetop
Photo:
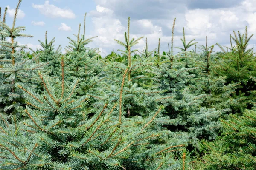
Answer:
M114 11L124 20L163 19L186 10L185 1L181 0L94 0L97 5ZM170 10L172 8L172 10ZM149 12L150 11L150 12Z

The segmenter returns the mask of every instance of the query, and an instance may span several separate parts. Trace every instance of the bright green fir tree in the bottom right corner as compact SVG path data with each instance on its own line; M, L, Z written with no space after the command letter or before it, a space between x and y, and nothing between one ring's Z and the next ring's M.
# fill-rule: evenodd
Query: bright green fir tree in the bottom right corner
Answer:
M204 170L254 170L256 168L256 111L221 119L222 135L203 141L206 155L199 166Z

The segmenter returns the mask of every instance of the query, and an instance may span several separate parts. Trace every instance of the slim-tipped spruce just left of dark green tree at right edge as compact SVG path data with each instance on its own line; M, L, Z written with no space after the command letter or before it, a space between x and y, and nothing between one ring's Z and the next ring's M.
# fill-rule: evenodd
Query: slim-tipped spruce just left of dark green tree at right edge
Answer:
M216 108L218 110L227 109L229 103L233 100L232 96L239 83L227 84L226 77L215 75L216 59L218 53L213 51L214 45L198 45L199 53L193 55L196 58L195 64L201 68L198 76L189 84L189 88L193 94L207 94L201 107ZM227 84L227 85L226 85Z

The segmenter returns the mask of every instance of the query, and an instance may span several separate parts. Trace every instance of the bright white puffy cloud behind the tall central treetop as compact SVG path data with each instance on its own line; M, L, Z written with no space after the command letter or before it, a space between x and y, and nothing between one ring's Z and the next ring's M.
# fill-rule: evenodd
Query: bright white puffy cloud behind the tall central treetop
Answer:
M113 11L103 6L96 6L96 11L91 11L94 35L98 36L92 42L100 48L100 54L105 57L114 49L123 49L122 46L116 43L114 39L124 41L124 33L127 31L127 20L125 23L121 23L119 19L113 15ZM138 31L139 30L139 31ZM151 20L132 20L130 29L130 40L132 38L137 39L145 36L149 42L158 40L159 37L163 36L162 28L154 25ZM140 34L143 32L145 34ZM157 42L156 42L157 43ZM153 44L153 43L152 43ZM154 43L155 44L155 43ZM139 43L133 47L133 49L143 50L145 46L145 38L139 40Z

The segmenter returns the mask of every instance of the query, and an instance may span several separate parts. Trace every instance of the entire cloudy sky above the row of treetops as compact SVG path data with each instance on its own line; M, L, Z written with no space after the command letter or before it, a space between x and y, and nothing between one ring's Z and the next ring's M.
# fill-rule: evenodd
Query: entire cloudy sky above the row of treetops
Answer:
M8 7L8 24L12 24L17 2L1 0L2 9ZM131 37L147 37L150 50L157 48L161 38L161 51L168 51L175 17L175 47L182 45L183 27L186 41L195 38L199 45L205 45L207 36L208 45L218 42L230 46L230 34L233 30L244 33L245 26L249 35L256 33L256 0L23 0L16 26L26 26L25 33L34 37L17 41L40 48L38 39L44 40L47 31L49 39L56 37L55 47L61 45L64 51L67 37L75 39L79 23L83 25L85 12L86 37L98 36L89 47L100 48L103 57L113 49L123 49L114 39L124 40L128 17ZM256 35L250 48L255 44ZM145 38L133 49L142 51L144 46Z

